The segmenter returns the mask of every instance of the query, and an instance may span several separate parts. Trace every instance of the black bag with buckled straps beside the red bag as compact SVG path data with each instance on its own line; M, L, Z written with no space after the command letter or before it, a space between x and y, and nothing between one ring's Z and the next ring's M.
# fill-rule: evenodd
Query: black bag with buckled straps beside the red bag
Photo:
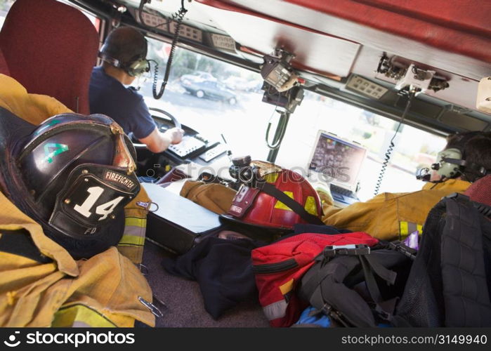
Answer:
M334 325L389 324L414 253L399 241L363 249L327 246L301 279L299 298Z

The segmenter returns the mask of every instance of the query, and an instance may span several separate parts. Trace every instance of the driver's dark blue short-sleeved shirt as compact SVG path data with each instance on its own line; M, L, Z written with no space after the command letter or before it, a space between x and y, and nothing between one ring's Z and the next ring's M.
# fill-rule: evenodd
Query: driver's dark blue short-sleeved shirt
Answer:
M102 66L92 70L89 102L91 114L111 117L126 134L133 133L137 139L148 137L155 129L143 96L107 75Z

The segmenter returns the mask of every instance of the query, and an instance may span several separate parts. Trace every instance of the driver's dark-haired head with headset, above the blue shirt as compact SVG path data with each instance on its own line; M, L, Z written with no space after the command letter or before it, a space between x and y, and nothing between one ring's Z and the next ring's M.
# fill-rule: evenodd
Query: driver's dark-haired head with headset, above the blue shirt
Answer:
M146 59L147 46L147 40L136 29L120 27L110 32L98 55L131 77L137 77L150 70L150 63Z

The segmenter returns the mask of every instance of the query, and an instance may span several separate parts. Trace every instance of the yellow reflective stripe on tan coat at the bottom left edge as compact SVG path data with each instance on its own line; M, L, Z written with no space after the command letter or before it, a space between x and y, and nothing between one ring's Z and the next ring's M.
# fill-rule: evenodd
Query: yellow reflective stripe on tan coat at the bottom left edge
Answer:
M114 327L116 324L86 305L72 305L61 307L60 310L56 311L51 326Z

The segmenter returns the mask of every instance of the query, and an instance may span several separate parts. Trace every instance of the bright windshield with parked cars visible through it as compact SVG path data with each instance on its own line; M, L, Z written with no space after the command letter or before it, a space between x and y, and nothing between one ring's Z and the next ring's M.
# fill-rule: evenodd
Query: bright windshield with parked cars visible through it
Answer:
M170 45L153 39L149 44L148 57L159 62L161 84ZM152 96L152 79L140 79L140 93L150 107L163 108L209 138L221 140L223 135L233 156L250 154L253 159L267 159L266 128L272 124L271 143L279 114L274 105L262 102L261 74L177 48L169 84L160 100ZM358 197L366 201L373 197L397 126L392 119L306 91L289 119L276 163L305 176L320 130L360 143L367 148L367 157L360 168ZM416 180L415 172L435 161L445 139L402 125L394 144L379 192L421 189L423 183Z

